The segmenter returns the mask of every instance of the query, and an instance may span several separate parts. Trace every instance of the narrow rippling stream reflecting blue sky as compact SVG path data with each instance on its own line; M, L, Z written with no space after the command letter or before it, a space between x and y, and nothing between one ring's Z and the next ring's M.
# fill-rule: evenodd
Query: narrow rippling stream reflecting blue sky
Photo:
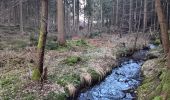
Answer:
M153 49L155 46L149 45L149 48ZM139 50L136 54L143 57L147 52L148 50ZM104 81L81 93L78 100L136 100L135 89L142 81L143 62L139 59L126 58Z

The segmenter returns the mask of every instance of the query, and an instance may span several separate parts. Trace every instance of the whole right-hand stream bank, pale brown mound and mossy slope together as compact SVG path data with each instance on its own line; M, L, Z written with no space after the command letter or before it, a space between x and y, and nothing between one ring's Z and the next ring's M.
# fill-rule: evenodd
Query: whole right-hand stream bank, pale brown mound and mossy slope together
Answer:
M157 58L142 66L143 82L137 89L138 100L170 100L170 70L161 48L152 50Z

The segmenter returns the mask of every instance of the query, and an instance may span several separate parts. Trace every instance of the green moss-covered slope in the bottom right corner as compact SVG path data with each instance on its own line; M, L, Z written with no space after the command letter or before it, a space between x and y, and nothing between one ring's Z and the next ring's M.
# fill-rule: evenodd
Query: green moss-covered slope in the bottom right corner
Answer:
M169 100L170 99L170 70L166 68L165 58L157 59L155 68L159 72L151 77L145 76L138 88L139 100Z

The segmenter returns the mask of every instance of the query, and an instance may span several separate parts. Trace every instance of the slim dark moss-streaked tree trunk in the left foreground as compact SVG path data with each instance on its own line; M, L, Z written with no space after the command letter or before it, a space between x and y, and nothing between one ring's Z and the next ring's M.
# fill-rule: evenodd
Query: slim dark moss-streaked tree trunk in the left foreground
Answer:
M40 33L38 41L38 72L37 78L43 81L43 63L44 63L44 50L47 37L47 22L48 22L48 0L41 0L41 24L40 24Z

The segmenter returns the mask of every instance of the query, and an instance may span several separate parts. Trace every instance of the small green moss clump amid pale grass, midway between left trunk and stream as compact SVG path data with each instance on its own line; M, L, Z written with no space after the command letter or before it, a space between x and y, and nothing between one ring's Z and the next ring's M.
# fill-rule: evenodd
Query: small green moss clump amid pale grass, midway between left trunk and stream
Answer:
M69 66L73 66L74 64L80 62L82 59L80 57L77 56L69 56L64 60L64 63L69 65Z

